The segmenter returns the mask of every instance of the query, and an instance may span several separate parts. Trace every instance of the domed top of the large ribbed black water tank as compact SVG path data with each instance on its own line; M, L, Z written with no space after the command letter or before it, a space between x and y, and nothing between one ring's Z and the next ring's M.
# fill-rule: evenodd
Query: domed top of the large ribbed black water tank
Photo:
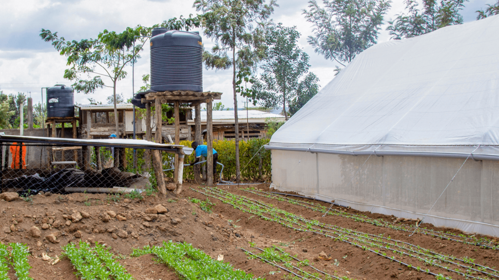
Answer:
M158 47L189 46L203 48L199 32L169 30L151 38L151 49Z

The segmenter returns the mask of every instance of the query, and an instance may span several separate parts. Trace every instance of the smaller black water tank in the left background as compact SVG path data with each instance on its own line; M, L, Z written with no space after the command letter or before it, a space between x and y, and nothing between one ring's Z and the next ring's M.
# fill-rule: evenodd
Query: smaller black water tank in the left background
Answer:
M74 117L74 90L72 87L55 85L47 89L47 117Z

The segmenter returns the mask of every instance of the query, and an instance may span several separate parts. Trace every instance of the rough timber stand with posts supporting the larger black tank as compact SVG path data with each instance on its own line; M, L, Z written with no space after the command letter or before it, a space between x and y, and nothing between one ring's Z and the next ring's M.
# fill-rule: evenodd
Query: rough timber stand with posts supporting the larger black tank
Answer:
M151 127L151 106L155 107L156 120L162 119L162 109L161 104L173 103L174 105L174 118L175 118L175 144L180 144L180 104L188 104L189 107L195 107L195 141L202 143L201 138L201 104L206 103L207 110L207 145L208 145L208 156L207 156L207 186L213 186L213 126L212 126L212 103L213 100L221 99L222 93L220 92L192 92L192 91L165 91L165 92L154 92L145 95L146 98L142 99L142 103L146 103L146 127ZM161 143L163 137L161 136L162 123L161 121L156 122L156 137L155 141ZM158 137L159 136L159 137ZM151 141L151 134L146 134L146 140ZM156 154L157 153L157 154ZM158 189L161 193L166 193L166 188L164 186L164 174L163 174L163 163L161 162L161 156L159 150L153 151L153 165L154 173L158 180ZM184 167L183 156L175 154L175 173L174 178L176 181L175 193L179 194L182 191L182 170ZM199 164L194 168L194 175L198 183L201 182ZM180 172L180 173L179 173Z

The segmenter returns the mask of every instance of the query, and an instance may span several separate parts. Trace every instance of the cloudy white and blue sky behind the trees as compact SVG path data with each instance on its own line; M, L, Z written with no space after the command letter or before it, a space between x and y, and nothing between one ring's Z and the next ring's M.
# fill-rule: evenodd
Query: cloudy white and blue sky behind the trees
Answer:
M464 21L476 19L476 10L495 0L469 0L462 10ZM306 37L312 33L312 26L302 15L307 0L277 0L274 22L295 25L301 33L300 46L310 55L311 71L320 79L320 86L326 85L334 77L335 64L313 52ZM151 26L172 17L196 14L193 0L1 0L0 4L0 90L3 93L23 92L41 100L40 88L57 83L71 85L63 79L66 57L39 37L42 28L57 31L68 40L95 38L104 29L123 31L128 26ZM385 20L394 18L404 9L403 0L393 0L392 8ZM380 32L378 42L389 40L386 25ZM199 29L199 31L202 30ZM213 42L203 37L205 48ZM149 73L149 47L141 53L142 58L135 64L135 90L141 85L143 74ZM132 96L132 68L126 69L128 76L121 80L117 92L126 98ZM104 80L104 82L108 82ZM223 92L222 102L226 107L234 107L232 97L231 71L204 70L204 90ZM96 93L75 94L75 101L87 104L87 98L106 103L112 89L99 89ZM240 102L239 107L243 106Z

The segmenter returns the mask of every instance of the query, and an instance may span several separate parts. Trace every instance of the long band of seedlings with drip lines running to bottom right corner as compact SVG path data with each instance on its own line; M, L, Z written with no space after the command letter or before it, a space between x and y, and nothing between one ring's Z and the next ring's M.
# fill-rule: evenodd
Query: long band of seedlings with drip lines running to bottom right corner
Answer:
M498 278L497 272L494 269L475 264L473 263L474 260L469 258L460 260L452 256L437 254L430 250L409 243L392 240L389 237L384 238L382 236L353 232L348 229L322 224L316 220L307 220L302 218L301 216L296 216L294 214L280 210L273 205L266 205L260 201L253 200L245 196L235 195L219 189L204 190L207 192L204 194L213 196L214 198L220 199L225 203L229 203L242 211L258 215L262 219L277 222L285 227L292 228L294 230L322 234L327 237L334 238L335 240L343 241L356 247L362 248L363 250L369 250L379 256L389 258L392 261L398 262L418 271L437 276L436 274L431 273L429 269L423 270L419 266L414 267L410 264L405 264L397 260L396 257L400 255L416 258L418 261L422 262L425 265L442 268L466 278L487 279L487 277L483 278L473 276L479 273ZM387 253L392 254L392 256L387 256ZM451 267L443 265L442 262L450 264Z

